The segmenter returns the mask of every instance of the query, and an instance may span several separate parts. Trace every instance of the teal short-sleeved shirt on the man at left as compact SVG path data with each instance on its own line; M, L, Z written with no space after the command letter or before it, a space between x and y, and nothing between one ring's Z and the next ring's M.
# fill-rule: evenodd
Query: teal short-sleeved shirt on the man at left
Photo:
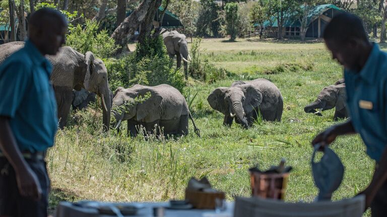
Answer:
M53 146L58 118L51 71L51 63L30 41L0 64L0 115L10 118L21 151Z

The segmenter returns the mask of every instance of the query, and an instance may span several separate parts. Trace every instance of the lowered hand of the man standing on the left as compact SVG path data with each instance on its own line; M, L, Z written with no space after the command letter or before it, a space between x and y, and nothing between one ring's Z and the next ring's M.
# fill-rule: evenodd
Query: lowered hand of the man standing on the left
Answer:
M19 193L22 196L30 197L35 200L41 198L42 188L36 174L31 168L25 168L25 170L21 172L16 171L16 180L18 182Z

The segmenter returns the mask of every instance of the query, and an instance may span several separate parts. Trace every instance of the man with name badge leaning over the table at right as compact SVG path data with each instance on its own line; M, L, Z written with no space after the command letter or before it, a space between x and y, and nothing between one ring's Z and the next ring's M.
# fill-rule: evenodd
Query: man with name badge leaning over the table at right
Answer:
M321 132L312 144L324 146L338 135L359 133L367 155L376 162L372 181L361 193L372 216L387 216L387 53L369 42L361 20L348 13L332 19L324 40L345 68L350 119Z

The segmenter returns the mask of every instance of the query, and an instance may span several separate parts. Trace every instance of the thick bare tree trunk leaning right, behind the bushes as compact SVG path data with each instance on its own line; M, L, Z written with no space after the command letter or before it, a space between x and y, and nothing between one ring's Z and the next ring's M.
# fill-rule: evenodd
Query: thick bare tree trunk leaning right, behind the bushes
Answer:
M145 21L148 10L151 8L151 4L154 6L156 1L159 2L160 6L161 0L144 0L130 16L124 19L124 21L114 30L113 34L111 34L111 38L114 39L115 44L121 46L121 48L117 50L117 54L127 49L127 38L130 37L137 30L137 28L139 28L143 21ZM152 7L152 9L154 9L154 7ZM152 24L152 21L153 18L150 24ZM143 29L146 29L144 25ZM141 32L143 32L143 30Z

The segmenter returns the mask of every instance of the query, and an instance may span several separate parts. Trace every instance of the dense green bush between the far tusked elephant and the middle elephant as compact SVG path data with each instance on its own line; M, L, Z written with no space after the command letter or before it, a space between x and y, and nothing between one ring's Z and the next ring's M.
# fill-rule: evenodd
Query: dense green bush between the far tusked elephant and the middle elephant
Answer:
M180 92L185 87L184 75L172 69L161 36L149 38L144 44L137 44L135 53L120 59L107 59L106 69L109 73L111 90L118 87L129 88L135 84L156 86L170 85Z

